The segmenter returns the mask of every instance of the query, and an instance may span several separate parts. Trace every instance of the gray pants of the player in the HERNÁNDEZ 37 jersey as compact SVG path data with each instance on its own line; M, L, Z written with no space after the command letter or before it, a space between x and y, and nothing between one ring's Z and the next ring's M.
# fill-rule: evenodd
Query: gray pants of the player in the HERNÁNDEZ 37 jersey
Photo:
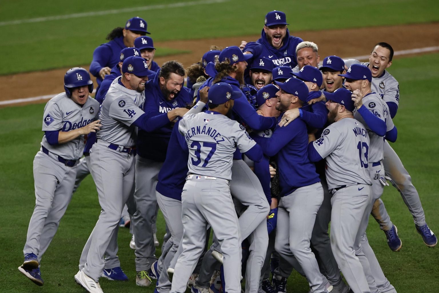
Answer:
M171 292L186 291L187 279L201 256L207 224L212 226L223 253L226 292L241 293L241 235L229 182L224 179L188 179L183 188L183 252L175 265Z

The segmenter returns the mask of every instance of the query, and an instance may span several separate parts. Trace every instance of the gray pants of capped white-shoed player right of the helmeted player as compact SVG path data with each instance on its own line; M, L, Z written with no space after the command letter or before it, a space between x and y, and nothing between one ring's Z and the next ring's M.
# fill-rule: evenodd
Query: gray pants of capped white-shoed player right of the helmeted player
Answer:
M87 255L83 271L96 282L104 269L104 254L110 239L117 237L115 229L133 190L135 172L133 155L116 152L107 146L108 143L98 140L90 151L90 171L102 210L87 240L90 245L83 249L83 254Z

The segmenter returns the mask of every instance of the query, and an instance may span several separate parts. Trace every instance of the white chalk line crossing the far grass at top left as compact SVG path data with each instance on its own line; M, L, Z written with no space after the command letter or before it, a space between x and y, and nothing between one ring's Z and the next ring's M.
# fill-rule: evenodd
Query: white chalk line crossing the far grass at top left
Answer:
M194 6L194 5L200 5L200 4L223 3L223 2L228 2L228 1L230 1L230 0L189 1L189 2L180 2L180 3L173 3L173 4L157 4L157 5L148 5L148 6L141 6L141 7L127 7L127 8L121 8L121 9L104 10L104 11L90 11L90 12L83 12L83 13L54 15L54 16L39 17L39 18L17 19L17 20L10 20L10 21L6 21L6 22L0 22L0 26L20 25L23 23L47 22L47 21L60 20L60 19L83 18L83 17L90 17L90 16L97 16L97 15L118 14L118 13L125 13L125 12L137 12L137 11L145 11L145 10L153 10L153 9L178 8L178 7Z

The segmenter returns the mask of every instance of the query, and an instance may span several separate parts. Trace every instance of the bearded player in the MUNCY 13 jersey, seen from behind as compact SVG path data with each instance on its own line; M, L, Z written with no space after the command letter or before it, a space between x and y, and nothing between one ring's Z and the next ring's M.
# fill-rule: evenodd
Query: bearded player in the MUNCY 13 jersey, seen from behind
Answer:
M308 157L326 159L326 178L331 199L331 248L353 292L370 293L366 275L356 256L361 253L360 221L371 202L372 181L367 172L369 136L366 128L353 119L351 92L338 89L328 94L326 106L332 123L315 141L311 138Z

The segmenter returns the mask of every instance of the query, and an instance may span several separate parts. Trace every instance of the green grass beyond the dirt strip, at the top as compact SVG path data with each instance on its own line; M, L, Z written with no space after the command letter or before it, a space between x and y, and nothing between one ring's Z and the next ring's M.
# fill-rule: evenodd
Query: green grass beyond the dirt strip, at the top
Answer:
M54 0L4 1L0 20L11 22L188 1L133 0L129 2L130 6L119 0L77 0L64 1L62 4ZM117 14L2 24L0 56L3 66L0 67L0 75L88 65L94 48L106 42L105 37L113 28L124 26L126 20L133 16L146 19L148 31L155 41L259 34L265 14L274 9L287 14L292 32L439 21L439 5L435 0L333 1L330 4L323 0L281 0L275 4L252 0L220 0L223 2L216 4L198 1L192 1L197 5L183 7L152 7ZM160 47L157 55L178 51L178 48Z

